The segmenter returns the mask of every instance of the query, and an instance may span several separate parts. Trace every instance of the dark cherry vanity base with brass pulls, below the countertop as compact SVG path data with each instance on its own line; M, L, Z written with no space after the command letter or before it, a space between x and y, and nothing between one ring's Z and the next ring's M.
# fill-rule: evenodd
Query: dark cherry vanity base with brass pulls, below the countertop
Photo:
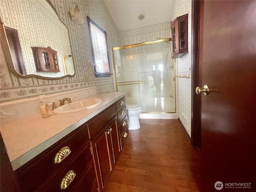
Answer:
M126 114L122 98L18 168L21 191L103 192L128 135Z

